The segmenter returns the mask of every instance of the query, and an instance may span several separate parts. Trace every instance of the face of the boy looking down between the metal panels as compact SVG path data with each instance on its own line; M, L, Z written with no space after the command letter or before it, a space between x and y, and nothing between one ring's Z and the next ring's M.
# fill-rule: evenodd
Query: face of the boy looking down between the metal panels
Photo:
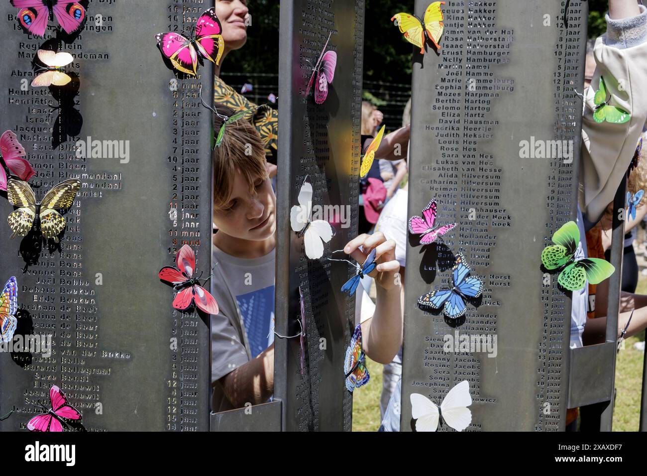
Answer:
M245 177L236 170L229 201L214 210L219 232L243 240L267 240L276 231L276 196L269 178L258 177L250 194Z

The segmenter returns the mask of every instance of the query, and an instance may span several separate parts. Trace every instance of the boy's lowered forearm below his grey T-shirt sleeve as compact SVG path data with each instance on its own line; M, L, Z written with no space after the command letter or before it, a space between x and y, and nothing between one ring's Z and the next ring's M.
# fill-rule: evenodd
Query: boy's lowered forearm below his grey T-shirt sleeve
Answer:
M265 403L274 394L274 344L220 379L227 400L236 408Z

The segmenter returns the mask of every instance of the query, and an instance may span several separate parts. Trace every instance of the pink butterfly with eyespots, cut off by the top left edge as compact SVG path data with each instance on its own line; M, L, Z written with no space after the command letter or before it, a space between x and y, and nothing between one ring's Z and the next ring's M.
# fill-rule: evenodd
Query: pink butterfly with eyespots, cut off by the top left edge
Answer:
M20 25L32 35L45 36L47 21L56 17L67 34L78 32L85 21L85 8L74 0L11 0Z

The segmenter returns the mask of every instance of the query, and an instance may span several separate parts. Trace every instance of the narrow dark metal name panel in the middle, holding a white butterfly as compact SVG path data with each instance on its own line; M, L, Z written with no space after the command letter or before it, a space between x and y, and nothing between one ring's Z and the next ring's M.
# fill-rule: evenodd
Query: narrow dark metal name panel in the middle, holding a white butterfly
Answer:
M355 327L355 297L340 289L356 271L326 258L346 258L331 251L342 249L357 230L363 32L362 0L281 5L276 332L300 332L299 288L306 316L303 373L300 339L275 340L274 389L283 402L285 431L351 429L344 356ZM326 49L336 51L337 65L320 105L316 85L307 97L305 91L329 36ZM313 186L313 219L336 230L318 260L305 256L303 238L290 225L306 176Z

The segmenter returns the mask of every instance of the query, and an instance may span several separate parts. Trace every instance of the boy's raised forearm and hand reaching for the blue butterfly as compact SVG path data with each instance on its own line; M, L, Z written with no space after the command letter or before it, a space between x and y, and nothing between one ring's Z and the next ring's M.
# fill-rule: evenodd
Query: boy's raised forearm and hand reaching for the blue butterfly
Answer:
M359 249L359 247L365 251ZM371 319L362 323L362 346L366 355L382 364L390 363L402 345L401 277L397 277L400 263L395 260L395 241L386 240L382 232L361 234L348 242L344 253L358 263L364 263L376 249L377 267L369 276L375 278L377 302Z

